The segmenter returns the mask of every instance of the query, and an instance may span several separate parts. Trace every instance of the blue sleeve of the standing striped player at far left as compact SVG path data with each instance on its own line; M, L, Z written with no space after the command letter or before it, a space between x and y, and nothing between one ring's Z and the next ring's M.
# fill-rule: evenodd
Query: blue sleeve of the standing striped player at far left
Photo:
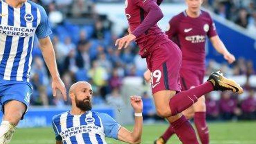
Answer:
M46 38L47 36L51 35L51 26L49 23L49 19L45 12L45 9L42 6L39 6L39 11L41 15L40 24L38 25L35 34L39 39Z

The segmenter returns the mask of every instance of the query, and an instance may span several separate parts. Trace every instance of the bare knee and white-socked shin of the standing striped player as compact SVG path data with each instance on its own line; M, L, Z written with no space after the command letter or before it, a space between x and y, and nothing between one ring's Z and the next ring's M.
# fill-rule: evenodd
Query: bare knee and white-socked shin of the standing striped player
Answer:
M10 143L16 125L25 111L25 104L19 101L12 100L4 105L4 116L0 126L0 144Z

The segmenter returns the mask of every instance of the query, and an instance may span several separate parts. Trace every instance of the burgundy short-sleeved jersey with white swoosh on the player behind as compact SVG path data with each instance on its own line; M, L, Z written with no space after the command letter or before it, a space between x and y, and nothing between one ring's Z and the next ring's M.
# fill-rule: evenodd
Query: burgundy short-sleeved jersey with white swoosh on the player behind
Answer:
M202 11L197 18L189 17L186 11L169 21L166 31L168 38L174 40L182 51L182 69L205 69L205 40L217 35L209 13Z

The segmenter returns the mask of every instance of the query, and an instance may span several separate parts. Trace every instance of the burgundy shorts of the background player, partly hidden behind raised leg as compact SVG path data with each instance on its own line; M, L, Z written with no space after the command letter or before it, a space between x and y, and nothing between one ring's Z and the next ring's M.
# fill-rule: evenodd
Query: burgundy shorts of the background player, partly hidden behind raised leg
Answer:
M179 75L181 90L189 90L203 83L205 70L189 70L181 68Z

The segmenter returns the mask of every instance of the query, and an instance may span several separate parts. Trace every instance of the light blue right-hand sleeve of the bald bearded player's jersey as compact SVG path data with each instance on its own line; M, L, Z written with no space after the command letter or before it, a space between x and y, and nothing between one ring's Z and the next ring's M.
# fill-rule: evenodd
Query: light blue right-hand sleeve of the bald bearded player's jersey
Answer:
M118 131L122 127L111 116L105 113L99 113L104 127L106 137L118 139Z

